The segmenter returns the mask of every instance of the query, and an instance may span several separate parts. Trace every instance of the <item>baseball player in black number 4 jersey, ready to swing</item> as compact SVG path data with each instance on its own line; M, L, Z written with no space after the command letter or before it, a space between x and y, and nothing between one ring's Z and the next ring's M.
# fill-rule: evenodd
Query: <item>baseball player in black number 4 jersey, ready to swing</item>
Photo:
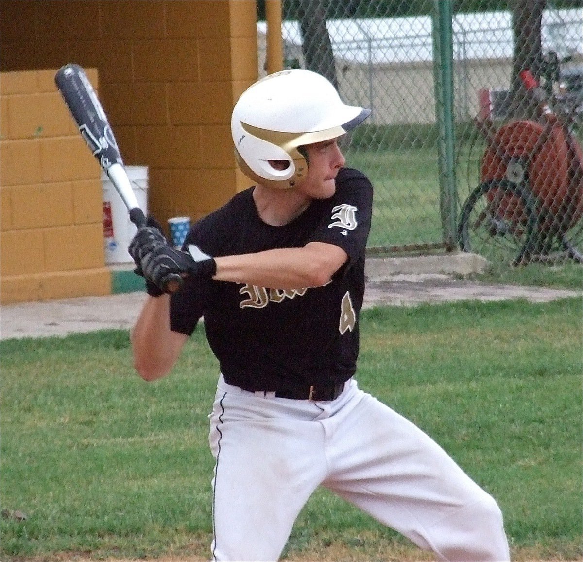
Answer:
M201 317L219 362L213 560L277 560L318 486L440 560L509 560L496 501L354 378L373 188L338 139L369 113L314 72L267 76L231 119L254 186L182 250L151 225L131 242L150 295L131 334L139 374L170 372ZM173 295L168 272L185 276Z

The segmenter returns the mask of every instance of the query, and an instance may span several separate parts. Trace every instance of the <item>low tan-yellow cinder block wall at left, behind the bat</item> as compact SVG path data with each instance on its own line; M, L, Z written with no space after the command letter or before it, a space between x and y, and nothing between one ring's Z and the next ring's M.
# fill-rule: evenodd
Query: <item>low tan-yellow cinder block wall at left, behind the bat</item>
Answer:
M0 76L0 299L107 295L100 168L55 70ZM88 70L97 84L97 71Z

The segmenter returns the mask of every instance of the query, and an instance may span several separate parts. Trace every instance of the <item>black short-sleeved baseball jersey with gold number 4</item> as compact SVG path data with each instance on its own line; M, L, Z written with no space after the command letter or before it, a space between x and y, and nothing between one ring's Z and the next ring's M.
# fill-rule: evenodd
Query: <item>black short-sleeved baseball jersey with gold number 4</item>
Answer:
M358 170L340 169L335 194L312 201L283 226L259 218L252 190L192 225L185 246L219 257L327 242L349 259L324 287L283 290L189 279L171 296L171 329L190 335L203 316L210 348L231 385L275 390L346 381L359 352L370 181Z

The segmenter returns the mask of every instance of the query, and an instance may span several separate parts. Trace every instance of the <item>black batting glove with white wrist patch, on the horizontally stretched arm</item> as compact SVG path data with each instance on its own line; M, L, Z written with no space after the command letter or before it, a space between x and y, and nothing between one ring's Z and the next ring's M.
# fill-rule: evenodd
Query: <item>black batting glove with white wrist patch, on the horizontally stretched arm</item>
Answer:
M210 279L216 273L215 260L194 244L188 246L188 252L182 252L167 243L159 243L142 258L141 266L146 285L150 281L159 291L164 278L170 274Z

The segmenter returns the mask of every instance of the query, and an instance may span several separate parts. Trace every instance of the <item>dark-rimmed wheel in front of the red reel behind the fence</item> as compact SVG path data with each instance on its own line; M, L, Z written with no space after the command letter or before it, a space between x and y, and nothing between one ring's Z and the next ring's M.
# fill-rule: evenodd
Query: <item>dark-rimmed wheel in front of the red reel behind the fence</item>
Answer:
M535 200L526 187L487 180L463 204L458 243L490 261L528 263L538 245L537 225Z

